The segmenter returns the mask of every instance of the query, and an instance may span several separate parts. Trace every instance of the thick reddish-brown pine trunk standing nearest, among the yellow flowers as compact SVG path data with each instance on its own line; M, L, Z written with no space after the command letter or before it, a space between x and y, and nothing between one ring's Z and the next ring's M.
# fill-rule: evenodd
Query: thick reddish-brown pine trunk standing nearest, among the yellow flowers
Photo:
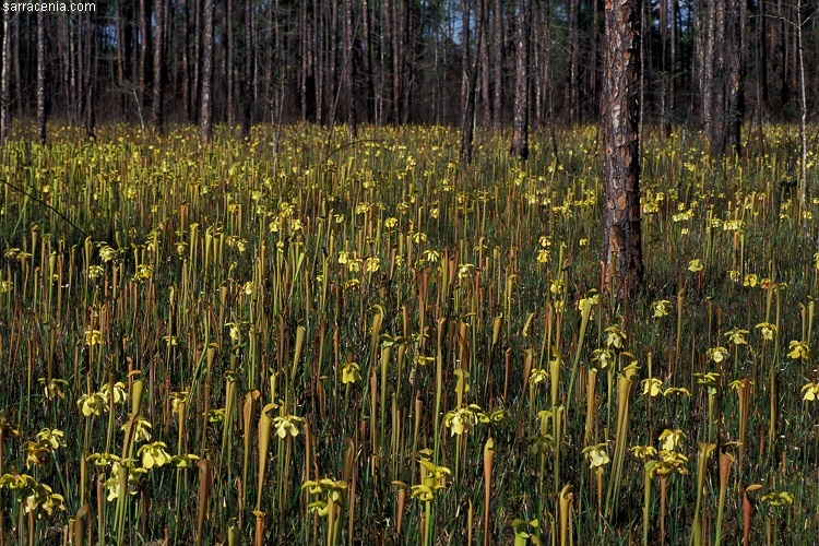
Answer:
M606 280L628 297L643 280L638 82L640 0L606 3L603 217Z

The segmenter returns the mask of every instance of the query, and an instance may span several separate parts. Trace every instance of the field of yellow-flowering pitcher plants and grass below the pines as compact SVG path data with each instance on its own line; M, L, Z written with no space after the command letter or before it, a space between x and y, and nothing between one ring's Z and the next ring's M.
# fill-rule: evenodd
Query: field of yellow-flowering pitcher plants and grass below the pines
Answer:
M97 136L0 150L0 545L819 535L794 128L645 139L628 301L594 128Z

